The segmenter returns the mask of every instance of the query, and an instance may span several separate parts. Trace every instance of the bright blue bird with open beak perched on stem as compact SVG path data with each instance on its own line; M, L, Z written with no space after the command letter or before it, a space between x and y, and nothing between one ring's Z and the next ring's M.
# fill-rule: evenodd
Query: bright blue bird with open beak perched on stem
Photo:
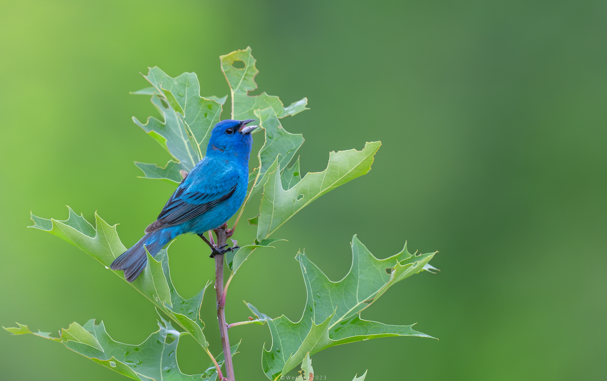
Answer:
M124 278L133 282L148 263L145 249L154 256L180 234L198 234L211 246L203 233L226 223L245 200L251 131L257 127L247 124L253 121L229 119L215 124L205 158L181 181L146 235L112 262L112 270L123 270ZM226 252L212 249L211 256Z

